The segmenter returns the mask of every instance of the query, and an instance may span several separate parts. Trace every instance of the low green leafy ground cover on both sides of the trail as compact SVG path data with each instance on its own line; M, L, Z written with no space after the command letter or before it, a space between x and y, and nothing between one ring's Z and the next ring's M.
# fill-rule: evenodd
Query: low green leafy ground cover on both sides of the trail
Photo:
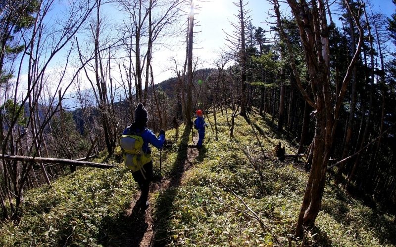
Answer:
M267 156L279 141L286 153L292 153L296 150L293 143L273 132L255 111L250 115L251 125L236 117L235 138L230 139L226 116L218 115L218 140L208 127L204 147L186 171L182 168L188 146L193 144L191 132L184 125L177 133L167 131L173 145L162 153L162 176L174 186L151 196L154 246L396 245L394 216L365 206L330 178L315 228L306 231L304 240L293 239L308 174L295 160L265 158L254 132ZM212 116L209 119L214 123ZM249 151L258 166L249 163L241 148ZM159 152L153 150L152 156L158 180ZM0 245L125 245L134 234L131 225L136 219L127 212L139 194L137 185L121 164L119 149L115 157L96 162L117 167L80 168L50 187L28 191L20 224L1 225ZM223 185L258 215L266 229Z

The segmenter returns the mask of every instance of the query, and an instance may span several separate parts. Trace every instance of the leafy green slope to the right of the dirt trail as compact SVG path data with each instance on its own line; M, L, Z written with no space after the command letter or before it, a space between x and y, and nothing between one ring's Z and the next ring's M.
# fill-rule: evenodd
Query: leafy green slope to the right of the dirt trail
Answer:
M163 243L171 246L289 245L308 175L292 160L282 163L271 157L264 158L252 126L267 155L271 156L271 150L279 141L286 145L287 153L292 153L293 147L283 136L272 132L257 113L250 118L252 125L242 117L236 118L235 140L255 157L261 177L235 140L229 141L226 117L220 116L217 120L219 140L214 139L215 135L208 128L205 148L199 151L193 168L185 174L183 186L165 191L163 199L158 200L154 220L160 224L156 239L165 239ZM213 119L209 119L213 123ZM249 216L252 213L244 203L222 184L257 213L267 230ZM164 210L167 207L168 210ZM316 227L306 232L304 244L395 246L393 217L364 206L330 181ZM293 240L292 245L300 246L301 241Z

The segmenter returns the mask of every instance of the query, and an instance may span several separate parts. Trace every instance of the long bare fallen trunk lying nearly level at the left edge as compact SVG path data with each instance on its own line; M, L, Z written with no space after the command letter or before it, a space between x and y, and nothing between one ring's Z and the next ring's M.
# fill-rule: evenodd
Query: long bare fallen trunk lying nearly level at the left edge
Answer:
M56 163L60 165L76 165L76 166L89 166L95 168L113 168L115 165L101 164L88 161L76 161L67 159L57 158L43 158L43 157L30 157L30 156L19 156L19 155L1 155L0 159L11 160L11 161L24 161L24 162L43 162L43 163Z

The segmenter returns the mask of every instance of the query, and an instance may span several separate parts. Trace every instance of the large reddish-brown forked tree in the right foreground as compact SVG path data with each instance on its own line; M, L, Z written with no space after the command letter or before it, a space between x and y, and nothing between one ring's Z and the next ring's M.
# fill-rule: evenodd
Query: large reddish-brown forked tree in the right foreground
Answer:
M331 148L336 132L340 108L350 82L352 69L356 63L360 48L363 43L363 30L359 23L359 11L351 10L348 0L345 0L348 11L359 31L359 40L355 53L348 65L341 87L332 91L329 70L329 32L326 17L326 6L323 0L287 0L295 16L300 40L305 55L311 89L314 99L303 88L301 76L297 70L291 41L284 32L281 22L280 4L278 0L272 1L278 22L278 28L283 40L286 42L293 73L296 76L297 88L301 91L305 101L315 109L315 135L312 142L312 164L306 184L304 197L298 215L296 235L301 237L306 226L313 226L321 206L322 196L326 183L326 168L331 155Z

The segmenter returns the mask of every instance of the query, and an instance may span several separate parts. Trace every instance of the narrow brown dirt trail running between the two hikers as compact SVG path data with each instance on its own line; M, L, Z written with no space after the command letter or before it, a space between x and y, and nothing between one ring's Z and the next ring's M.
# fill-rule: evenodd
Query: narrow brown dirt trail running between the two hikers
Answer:
M194 143L198 142L198 134L193 137ZM188 145L187 149L187 158L184 160L183 164L178 165L177 172L172 177L162 178L161 180L161 191L165 191L171 187L179 187L183 184L183 180L185 178L185 171L189 170L193 161L198 157L198 149L195 145ZM159 192L159 182L151 183L150 193L148 194L149 201L152 201L152 197ZM143 213L135 213L134 206L136 201L139 199L140 195L136 195L135 198L131 202L131 207L128 210L128 216L136 217L133 219L132 232L126 233L130 235L129 243L127 246L130 247L150 247L153 244L153 218L152 218L152 209L153 205L148 207L146 214ZM144 219L143 219L144 217Z

